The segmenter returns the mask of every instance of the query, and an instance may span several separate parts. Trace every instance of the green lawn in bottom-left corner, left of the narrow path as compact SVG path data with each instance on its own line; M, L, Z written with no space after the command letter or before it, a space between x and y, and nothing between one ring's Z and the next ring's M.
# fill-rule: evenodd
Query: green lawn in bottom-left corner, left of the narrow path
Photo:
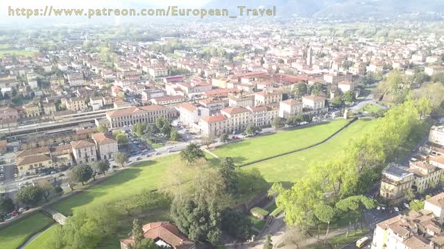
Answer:
M26 239L53 222L53 219L40 212L18 221L14 225L0 230L0 248L16 249Z

